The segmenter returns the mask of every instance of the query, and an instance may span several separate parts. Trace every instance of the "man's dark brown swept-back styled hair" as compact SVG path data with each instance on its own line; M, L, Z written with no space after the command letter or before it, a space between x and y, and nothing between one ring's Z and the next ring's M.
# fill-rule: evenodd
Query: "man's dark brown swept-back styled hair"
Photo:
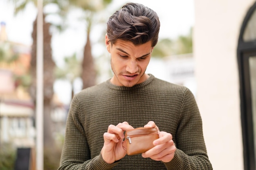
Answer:
M109 42L117 39L130 41L135 46L152 41L157 44L160 22L157 13L143 4L127 3L116 11L107 22Z

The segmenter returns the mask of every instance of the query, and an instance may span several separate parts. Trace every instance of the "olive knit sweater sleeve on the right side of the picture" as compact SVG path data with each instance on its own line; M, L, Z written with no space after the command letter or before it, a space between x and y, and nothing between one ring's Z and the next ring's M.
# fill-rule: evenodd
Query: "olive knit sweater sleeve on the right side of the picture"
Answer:
M189 89L184 92L180 107L180 123L174 137L173 160L164 163L169 170L212 170L202 132L202 119L195 98Z

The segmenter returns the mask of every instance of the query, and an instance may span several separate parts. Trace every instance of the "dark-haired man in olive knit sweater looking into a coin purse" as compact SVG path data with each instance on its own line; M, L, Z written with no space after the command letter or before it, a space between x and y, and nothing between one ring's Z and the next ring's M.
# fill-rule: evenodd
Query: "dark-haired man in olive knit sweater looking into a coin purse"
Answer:
M157 14L128 3L108 20L114 76L72 100L59 170L211 170L202 121L186 87L145 74L159 33ZM154 147L126 155L124 131L156 127Z

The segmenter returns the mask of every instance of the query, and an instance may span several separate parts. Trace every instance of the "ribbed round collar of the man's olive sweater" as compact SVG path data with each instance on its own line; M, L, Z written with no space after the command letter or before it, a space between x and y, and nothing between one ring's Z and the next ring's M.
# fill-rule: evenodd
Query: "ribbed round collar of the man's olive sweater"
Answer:
M137 89L137 88L141 88L141 87L144 87L144 86L148 85L151 81L154 80L155 76L153 76L152 74L148 74L148 75L149 75L149 78L146 79L146 81L144 81L142 83L139 83L137 85L134 85L132 87L113 85L112 83L110 83L110 79L111 78L106 81L106 84L108 85L108 87L110 89L115 89L115 90L132 90L132 89Z

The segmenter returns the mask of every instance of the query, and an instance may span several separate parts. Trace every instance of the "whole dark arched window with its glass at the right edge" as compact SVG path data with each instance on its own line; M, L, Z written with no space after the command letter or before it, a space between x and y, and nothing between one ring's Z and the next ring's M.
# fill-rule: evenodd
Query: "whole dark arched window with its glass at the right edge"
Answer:
M256 2L245 16L238 39L240 110L244 169L256 169Z

